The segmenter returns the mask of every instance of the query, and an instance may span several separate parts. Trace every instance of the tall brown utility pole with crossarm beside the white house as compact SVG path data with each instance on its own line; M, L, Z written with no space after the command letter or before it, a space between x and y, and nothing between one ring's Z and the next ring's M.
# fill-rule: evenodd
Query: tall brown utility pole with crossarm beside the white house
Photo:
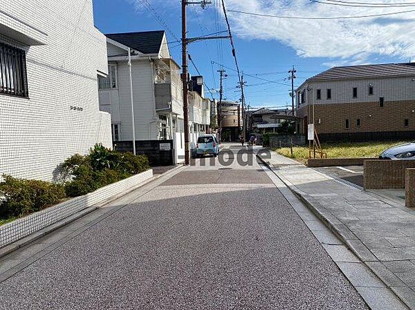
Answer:
M209 39L229 39L229 36L187 38L186 6L199 4L204 9L211 1L181 0L182 8L182 81L183 81L183 118L185 126L185 164L190 164L190 136L189 136L189 66L187 65L187 45L189 43Z

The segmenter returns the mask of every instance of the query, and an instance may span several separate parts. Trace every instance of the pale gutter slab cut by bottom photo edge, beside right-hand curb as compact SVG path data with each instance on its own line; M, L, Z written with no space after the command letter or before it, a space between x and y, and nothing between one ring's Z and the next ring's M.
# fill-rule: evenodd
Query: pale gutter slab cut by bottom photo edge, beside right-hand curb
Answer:
M371 310L407 310L398 298L384 287L356 287Z

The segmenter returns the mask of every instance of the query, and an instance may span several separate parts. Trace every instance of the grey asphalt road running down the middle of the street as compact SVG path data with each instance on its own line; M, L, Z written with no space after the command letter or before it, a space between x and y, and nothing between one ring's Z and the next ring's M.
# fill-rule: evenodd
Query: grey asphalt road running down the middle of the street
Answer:
M219 164L231 150L2 282L0 309L367 309L255 160Z

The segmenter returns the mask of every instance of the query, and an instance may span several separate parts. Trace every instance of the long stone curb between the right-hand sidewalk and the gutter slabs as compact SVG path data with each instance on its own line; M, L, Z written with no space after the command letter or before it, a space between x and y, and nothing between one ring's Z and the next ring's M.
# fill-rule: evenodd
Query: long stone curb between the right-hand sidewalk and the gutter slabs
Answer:
M382 281L385 286L391 290L397 298L405 304L409 309L415 310L415 304L414 304L414 296L410 293L411 289L403 283L400 279L394 275L394 273L391 273L382 262L380 262L369 249L363 244L357 237L354 235L350 229L347 228L346 225L344 225L340 220L338 220L336 217L334 217L331 213L324 214L324 207L320 206L320 209L318 209L317 206L320 205L319 202L313 202L313 197L310 197L309 195L302 193L302 191L299 191L298 188L295 188L291 182L286 180L281 175L278 175L276 171L273 169L273 166L270 165L269 162L266 162L264 159L262 159L259 155L257 155L257 158L265 164L270 171L272 171L278 178L281 180L286 187L294 193L296 197L298 197L299 200L301 200L308 209L310 209L315 216L317 216L323 224L330 229L332 233L334 233L340 241L344 243L345 246L347 246L348 249L350 249L370 270L372 273L374 273L380 281ZM376 267L376 265L381 264L382 267ZM396 284L396 282L399 282L399 284Z

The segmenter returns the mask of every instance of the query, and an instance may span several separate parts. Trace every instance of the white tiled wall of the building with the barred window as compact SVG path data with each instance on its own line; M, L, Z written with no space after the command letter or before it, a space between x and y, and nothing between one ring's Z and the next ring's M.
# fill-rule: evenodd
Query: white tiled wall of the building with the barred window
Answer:
M93 25L92 0L0 4L7 13L0 11L0 25L45 43L28 46L0 32L1 42L27 51L29 93L0 95L0 175L50 181L67 157L98 142L111 147L97 83L97 71L107 73L106 39Z

